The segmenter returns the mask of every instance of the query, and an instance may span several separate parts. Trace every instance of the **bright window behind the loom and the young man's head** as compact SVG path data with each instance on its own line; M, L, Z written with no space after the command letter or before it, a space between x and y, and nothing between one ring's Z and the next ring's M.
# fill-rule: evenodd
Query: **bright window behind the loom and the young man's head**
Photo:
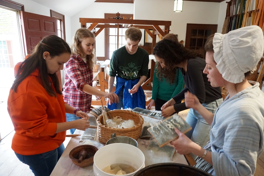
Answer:
M131 18L133 14L120 14L120 17ZM105 13L104 18L115 18L115 13ZM118 48L126 45L125 40L125 31L127 28L119 28L119 35L117 35L117 28L105 28L104 37L105 37L105 59L111 59L112 54ZM119 36L119 37L117 37ZM119 38L119 45L117 46L117 38ZM98 59L98 57L97 57Z

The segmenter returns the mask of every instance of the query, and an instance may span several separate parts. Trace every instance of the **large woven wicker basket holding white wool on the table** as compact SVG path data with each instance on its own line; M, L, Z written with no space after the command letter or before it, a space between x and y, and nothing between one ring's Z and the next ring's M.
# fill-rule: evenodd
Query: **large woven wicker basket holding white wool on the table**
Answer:
M113 133L116 133L116 136L128 136L135 140L140 137L142 132L142 125L144 123L143 117L135 112L126 110L114 110L109 111L109 113L112 117L121 116L124 120L131 119L135 122L136 126L123 129L111 128L102 124L103 116L100 115L97 118L97 135L99 142L106 143L109 139L111 139L111 134Z

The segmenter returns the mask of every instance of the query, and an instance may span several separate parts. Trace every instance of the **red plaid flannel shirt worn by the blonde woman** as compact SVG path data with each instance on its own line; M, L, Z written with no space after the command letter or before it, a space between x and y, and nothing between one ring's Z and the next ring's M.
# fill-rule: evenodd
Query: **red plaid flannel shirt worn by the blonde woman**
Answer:
M92 95L82 91L85 84L92 86L93 70L89 69L79 55L72 55L64 65L64 101L83 112L91 111Z

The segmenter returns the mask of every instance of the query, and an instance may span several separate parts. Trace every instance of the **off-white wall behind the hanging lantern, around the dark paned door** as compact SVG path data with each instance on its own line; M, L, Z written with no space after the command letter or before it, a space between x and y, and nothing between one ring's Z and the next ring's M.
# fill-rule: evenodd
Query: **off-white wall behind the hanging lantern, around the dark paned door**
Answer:
M173 12L172 0L135 0L134 19L171 21L170 33L186 37L187 23L217 24L219 5L215 2L184 1L182 12ZM162 27L163 29L163 27Z

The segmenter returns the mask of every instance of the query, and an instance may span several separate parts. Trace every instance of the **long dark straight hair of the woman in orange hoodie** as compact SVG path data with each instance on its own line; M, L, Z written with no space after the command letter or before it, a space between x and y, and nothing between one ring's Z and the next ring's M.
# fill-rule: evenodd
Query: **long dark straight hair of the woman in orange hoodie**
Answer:
M43 59L43 53L46 51L50 53L51 57L59 56L63 53L71 53L69 45L62 38L56 35L43 38L38 45L35 46L32 54L19 66L16 79L11 89L16 92L18 85L38 68L43 87L48 94L54 97L56 97L56 93L62 94L56 73L48 73L46 61ZM52 80L56 92L50 86L49 77Z

